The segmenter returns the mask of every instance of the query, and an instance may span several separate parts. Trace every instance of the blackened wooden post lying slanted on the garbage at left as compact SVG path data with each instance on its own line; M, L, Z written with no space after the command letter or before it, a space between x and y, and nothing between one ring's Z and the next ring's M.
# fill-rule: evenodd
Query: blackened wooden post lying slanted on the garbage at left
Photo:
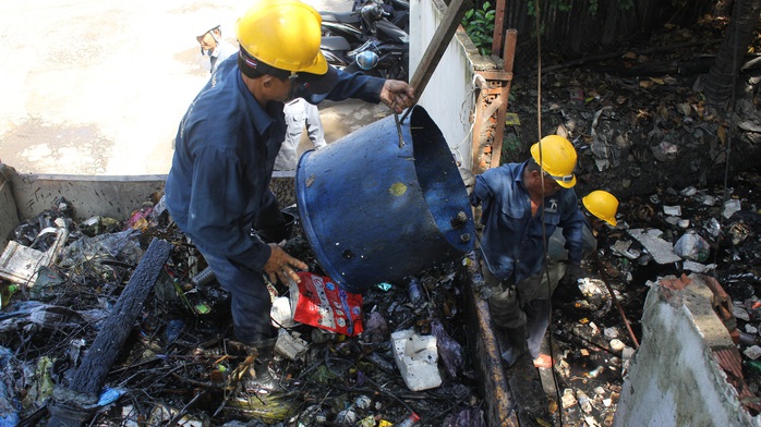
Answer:
M78 427L93 416L106 376L130 335L145 297L156 283L172 247L166 241L154 239L150 242L71 385L68 389L57 388L53 391L48 403L48 427Z

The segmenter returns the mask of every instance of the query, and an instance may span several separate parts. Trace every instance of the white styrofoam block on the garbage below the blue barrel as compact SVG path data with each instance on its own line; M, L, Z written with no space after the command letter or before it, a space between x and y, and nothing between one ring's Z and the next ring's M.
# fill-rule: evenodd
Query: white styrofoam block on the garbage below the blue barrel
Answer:
M419 335L412 329L391 333L394 358L407 388L412 391L442 385L435 335Z

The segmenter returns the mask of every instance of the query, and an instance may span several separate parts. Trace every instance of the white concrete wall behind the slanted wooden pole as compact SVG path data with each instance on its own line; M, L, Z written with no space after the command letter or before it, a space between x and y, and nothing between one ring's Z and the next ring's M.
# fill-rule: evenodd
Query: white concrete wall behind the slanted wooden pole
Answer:
M446 4L440 0L410 1L410 70L414 75L436 28L444 17ZM471 164L471 115L474 107L474 70L494 70L496 64L481 57L462 27L458 28L428 81L419 103L442 130L456 159Z

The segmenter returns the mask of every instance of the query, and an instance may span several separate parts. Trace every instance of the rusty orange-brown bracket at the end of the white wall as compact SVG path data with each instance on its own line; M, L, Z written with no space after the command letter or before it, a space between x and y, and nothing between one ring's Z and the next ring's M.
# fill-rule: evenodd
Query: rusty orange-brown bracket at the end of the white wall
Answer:
M517 32L507 30L506 39L504 70L475 72L475 82L480 90L474 106L470 168L475 174L499 166Z

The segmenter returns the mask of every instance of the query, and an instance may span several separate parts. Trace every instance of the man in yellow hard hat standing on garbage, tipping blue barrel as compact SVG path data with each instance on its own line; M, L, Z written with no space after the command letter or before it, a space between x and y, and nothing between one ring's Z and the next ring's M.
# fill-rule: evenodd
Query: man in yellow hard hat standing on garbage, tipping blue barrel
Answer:
M251 387L265 390L275 382L267 362L277 337L265 278L299 281L307 268L252 234L288 225L268 187L287 129L283 102L358 98L401 112L414 98L404 82L328 65L321 23L298 0L257 0L242 14L237 59L218 65L182 118L165 186L172 219L230 293L234 337L262 358Z

